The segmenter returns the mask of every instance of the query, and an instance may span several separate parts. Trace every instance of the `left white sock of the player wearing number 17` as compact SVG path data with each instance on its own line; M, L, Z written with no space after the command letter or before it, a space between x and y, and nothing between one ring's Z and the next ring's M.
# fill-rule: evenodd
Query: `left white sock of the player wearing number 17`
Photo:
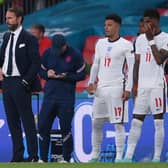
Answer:
M92 121L92 158L97 158L102 144L102 128L108 118L96 118Z

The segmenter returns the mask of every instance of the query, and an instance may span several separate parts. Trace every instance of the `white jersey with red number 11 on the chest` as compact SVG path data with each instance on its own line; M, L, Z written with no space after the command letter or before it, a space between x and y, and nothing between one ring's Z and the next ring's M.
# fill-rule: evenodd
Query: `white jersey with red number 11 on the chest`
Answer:
M160 49L168 50L168 34L161 32L154 37L155 44ZM138 36L135 53L140 54L138 88L163 88L164 69L158 65L152 54L145 34Z

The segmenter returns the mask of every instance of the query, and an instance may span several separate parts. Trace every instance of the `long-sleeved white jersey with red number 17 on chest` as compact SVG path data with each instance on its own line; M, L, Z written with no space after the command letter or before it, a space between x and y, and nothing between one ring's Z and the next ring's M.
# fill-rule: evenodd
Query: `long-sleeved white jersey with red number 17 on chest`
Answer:
M134 63L132 51L132 43L122 37L113 42L109 42L108 38L98 40L89 83L94 83L96 77L98 77L98 87L122 87L124 79L123 66L126 60L128 64L126 90L130 91Z

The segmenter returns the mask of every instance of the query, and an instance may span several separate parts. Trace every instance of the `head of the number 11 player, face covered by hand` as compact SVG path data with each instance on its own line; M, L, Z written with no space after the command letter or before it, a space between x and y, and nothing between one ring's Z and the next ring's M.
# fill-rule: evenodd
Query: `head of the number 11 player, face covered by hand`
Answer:
M144 24L151 24L152 27L158 28L160 21L160 14L157 9L146 9L144 11Z

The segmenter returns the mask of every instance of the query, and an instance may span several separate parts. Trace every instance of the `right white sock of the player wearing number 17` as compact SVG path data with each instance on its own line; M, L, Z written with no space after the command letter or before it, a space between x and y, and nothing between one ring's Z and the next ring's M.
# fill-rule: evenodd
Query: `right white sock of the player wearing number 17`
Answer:
M116 160L121 160L125 146L125 128L123 124L114 124L115 143L116 143Z

